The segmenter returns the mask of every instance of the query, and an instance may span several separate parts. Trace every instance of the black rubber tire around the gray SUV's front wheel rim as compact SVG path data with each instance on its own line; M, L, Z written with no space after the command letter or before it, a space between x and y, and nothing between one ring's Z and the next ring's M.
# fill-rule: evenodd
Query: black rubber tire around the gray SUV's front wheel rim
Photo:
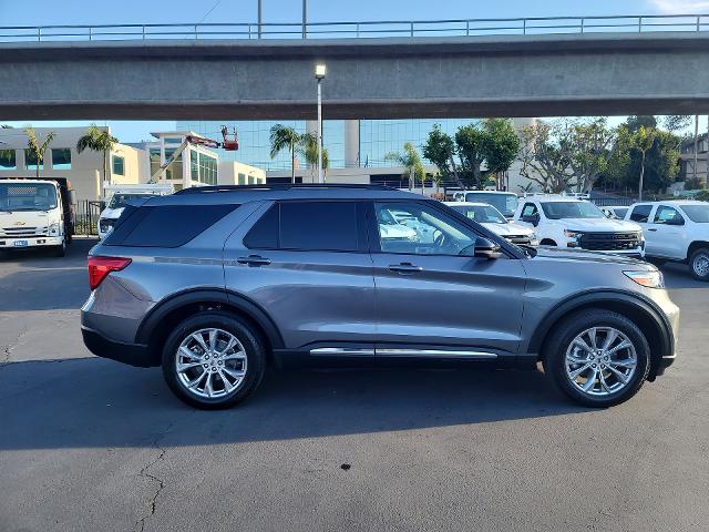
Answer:
M566 372L566 351L577 335L593 327L612 327L623 332L635 348L637 366L628 382L617 391L593 396L574 385ZM640 328L625 316L598 308L580 310L554 326L545 342L544 372L552 382L574 401L586 407L606 408L619 405L635 396L650 370L650 347Z

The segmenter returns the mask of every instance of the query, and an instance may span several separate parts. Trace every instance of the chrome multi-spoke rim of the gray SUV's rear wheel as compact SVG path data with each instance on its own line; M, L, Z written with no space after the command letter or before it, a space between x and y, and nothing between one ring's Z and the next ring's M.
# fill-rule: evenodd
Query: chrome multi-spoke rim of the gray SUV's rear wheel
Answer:
M187 336L175 354L179 382L191 393L206 399L234 392L246 376L246 351L224 329L199 329Z

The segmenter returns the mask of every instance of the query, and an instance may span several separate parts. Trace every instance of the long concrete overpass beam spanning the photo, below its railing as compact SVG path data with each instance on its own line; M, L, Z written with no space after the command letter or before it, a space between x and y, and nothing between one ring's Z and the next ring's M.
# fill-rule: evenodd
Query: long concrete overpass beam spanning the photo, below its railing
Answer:
M2 120L709 112L709 34L0 44Z

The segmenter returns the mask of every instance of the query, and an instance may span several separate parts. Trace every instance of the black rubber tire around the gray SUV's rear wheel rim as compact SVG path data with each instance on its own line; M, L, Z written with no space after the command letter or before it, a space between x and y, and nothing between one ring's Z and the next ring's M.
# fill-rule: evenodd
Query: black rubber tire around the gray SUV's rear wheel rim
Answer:
M176 369L176 352L182 341L193 332L206 328L218 328L234 335L246 354L247 369L243 381L230 393L217 398L201 397L187 390ZM246 399L260 383L266 371L266 348L260 336L236 316L209 310L192 316L175 327L165 341L162 367L169 389L187 405L205 410L229 408Z

